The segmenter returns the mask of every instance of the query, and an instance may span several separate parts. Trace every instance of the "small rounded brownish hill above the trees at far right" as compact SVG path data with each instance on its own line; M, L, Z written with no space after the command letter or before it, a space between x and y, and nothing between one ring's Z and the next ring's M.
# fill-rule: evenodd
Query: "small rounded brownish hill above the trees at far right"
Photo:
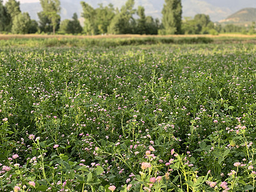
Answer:
M227 19L220 20L220 22L234 24L246 24L253 21L256 21L256 8L244 8L228 16Z

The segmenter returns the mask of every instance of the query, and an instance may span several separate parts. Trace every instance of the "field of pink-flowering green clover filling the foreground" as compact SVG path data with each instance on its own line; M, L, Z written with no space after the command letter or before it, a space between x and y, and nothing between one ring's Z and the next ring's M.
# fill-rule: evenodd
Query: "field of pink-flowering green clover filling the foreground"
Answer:
M0 48L0 191L256 191L255 54Z

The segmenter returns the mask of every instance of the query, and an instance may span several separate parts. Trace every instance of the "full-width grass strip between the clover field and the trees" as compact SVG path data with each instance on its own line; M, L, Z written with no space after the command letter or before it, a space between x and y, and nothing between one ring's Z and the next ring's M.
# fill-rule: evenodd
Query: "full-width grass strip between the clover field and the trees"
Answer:
M253 44L253 35L0 35L1 47L116 47L154 44Z

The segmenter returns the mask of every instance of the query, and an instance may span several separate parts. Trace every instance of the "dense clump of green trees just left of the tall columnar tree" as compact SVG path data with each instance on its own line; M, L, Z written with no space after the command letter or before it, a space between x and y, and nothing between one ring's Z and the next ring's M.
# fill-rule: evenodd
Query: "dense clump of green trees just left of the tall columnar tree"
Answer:
M158 19L145 15L143 6L134 9L134 0L128 0L120 10L112 4L93 9L92 6L81 2L83 7L84 33L87 35L97 34L157 34L160 27ZM134 15L138 19L134 19Z

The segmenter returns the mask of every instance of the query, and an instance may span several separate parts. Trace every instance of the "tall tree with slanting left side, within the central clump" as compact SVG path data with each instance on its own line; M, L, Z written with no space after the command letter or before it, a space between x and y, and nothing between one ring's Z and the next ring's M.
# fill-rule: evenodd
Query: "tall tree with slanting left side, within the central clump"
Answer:
M134 0L127 0L121 11L115 15L108 28L111 34L127 34L134 32L135 20L132 15L136 12L133 9Z

